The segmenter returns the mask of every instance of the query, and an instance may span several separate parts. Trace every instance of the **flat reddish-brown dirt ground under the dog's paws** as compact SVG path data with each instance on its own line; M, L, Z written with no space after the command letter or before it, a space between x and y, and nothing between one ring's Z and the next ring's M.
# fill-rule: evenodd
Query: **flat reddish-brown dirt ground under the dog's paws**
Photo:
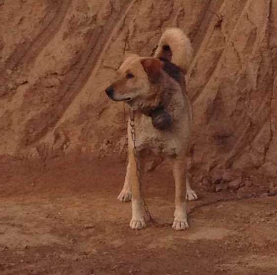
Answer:
M194 186L200 199L188 203L190 229L175 232L168 225L173 178L164 164L144 180L159 225L133 231L130 203L116 199L125 164L114 163L57 166L39 177L6 174L0 185L0 274L277 274L276 196L239 199Z

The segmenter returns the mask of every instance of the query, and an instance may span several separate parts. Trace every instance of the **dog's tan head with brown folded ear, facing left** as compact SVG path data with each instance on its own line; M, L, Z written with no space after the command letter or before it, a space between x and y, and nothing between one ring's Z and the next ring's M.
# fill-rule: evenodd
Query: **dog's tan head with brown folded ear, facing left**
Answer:
M131 106L153 100L157 92L153 84L159 81L163 64L157 58L129 56L117 71L116 80L105 89L107 96L114 101L126 101Z

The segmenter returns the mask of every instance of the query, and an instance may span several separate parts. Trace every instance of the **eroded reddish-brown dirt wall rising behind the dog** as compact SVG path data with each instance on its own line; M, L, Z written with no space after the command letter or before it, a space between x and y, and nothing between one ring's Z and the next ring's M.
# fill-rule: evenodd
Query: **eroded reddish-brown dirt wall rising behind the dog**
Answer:
M0 0L1 163L124 154L104 87L171 26L195 49L191 170L276 178L276 0Z

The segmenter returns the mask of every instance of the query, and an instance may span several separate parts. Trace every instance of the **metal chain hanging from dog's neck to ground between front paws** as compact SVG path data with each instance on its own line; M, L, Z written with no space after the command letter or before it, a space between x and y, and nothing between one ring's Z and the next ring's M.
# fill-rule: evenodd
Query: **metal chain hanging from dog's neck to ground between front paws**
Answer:
M131 138L132 138L133 146L134 146L133 152L134 152L134 157L135 157L135 162L136 162L136 172L137 172L137 178L138 178L139 191L140 191L141 196L142 196L141 177L140 177L141 173L140 173L140 167L139 167L139 162L138 162L138 150L137 150L137 147L136 147L135 116L134 116L134 111L133 110L130 110L130 126L131 126ZM152 218L152 216L149 212L148 206L147 206L147 204L145 203L145 201L143 199L143 196L142 196L142 201L143 201L143 206L144 206L144 209L146 211L146 214L148 215L149 220L152 224L154 224L156 226L159 226L159 227L165 227L165 226L169 226L169 225L171 226L172 225L170 223L159 224L158 222L156 222Z

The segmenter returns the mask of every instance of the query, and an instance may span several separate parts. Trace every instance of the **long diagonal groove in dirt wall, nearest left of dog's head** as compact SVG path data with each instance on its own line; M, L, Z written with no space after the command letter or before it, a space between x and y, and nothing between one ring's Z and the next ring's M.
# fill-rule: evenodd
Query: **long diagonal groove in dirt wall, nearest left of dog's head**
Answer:
M130 1L125 0L121 7L121 13L114 13L104 27L98 26L92 31L86 50L74 58L73 69L65 76L59 87L59 93L63 95L59 104L27 121L24 130L25 134L21 141L23 146L32 145L51 131L69 108L76 95L81 91L88 78L95 76L100 68L106 49L136 1L133 0L130 3ZM38 126L37 131L34 132L34 125L41 125L42 122L44 124L43 127ZM30 131L30 129L32 130ZM31 135L28 134L30 132L32 133Z

